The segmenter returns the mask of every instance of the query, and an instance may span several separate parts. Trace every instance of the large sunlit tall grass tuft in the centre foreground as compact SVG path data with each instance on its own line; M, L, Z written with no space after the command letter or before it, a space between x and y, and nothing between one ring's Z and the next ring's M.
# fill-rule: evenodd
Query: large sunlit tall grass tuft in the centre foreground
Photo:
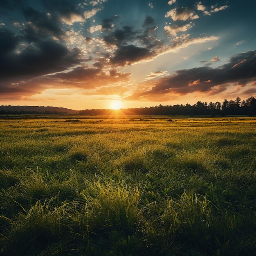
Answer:
M98 180L83 191L82 196L92 213L91 221L96 229L111 227L126 234L135 234L141 219L138 208L140 193L136 187Z

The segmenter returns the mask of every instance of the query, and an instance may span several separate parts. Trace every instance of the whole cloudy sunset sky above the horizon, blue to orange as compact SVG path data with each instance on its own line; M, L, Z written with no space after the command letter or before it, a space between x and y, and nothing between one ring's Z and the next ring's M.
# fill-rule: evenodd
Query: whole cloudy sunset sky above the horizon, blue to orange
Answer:
M0 105L247 99L255 10L255 0L1 0Z

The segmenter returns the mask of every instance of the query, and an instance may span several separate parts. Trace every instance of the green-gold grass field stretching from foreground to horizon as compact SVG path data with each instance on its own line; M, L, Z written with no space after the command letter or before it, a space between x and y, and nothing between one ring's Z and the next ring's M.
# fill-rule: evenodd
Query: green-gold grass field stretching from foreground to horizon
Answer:
M256 118L2 116L0 216L1 255L254 255Z

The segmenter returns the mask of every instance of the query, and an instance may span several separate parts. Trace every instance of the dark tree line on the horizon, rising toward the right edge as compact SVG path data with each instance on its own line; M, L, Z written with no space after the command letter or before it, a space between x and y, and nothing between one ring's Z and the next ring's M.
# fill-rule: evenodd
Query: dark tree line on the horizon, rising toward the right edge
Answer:
M145 108L126 108L120 110L125 115L181 115L181 116L198 116L211 115L225 116L225 115L256 115L256 99L249 97L246 101L241 101L239 97L236 100L227 101L225 99L222 103L201 102L198 101L194 105L159 105L155 107ZM85 109L79 112L81 115L107 115L110 110L106 109Z

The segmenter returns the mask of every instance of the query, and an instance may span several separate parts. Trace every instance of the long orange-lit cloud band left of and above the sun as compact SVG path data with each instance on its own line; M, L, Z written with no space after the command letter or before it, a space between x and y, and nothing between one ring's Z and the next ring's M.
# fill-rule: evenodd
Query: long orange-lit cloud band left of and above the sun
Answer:
M44 90L51 88L79 88L82 90L92 90L104 86L113 86L115 83L119 84L127 81L129 76L130 73L121 73L117 70L104 72L101 68L79 66L68 72L59 72L46 76L34 77L33 79L18 80L14 83L13 79L6 79L5 81L0 81L0 99L22 99L22 97L40 94ZM107 88L105 88L106 93L110 92L109 88L108 90ZM114 94L117 92L118 94L124 92L124 88L122 89L120 86L118 88L119 90L112 90ZM88 95L96 95L100 91L90 92Z

